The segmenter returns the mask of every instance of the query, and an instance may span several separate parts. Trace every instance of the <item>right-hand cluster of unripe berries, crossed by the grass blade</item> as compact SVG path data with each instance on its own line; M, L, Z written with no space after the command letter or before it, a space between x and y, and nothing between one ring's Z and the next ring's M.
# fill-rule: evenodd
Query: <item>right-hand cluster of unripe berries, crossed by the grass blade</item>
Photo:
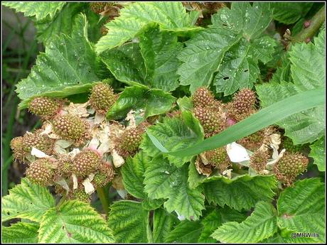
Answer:
M223 104L215 99L209 89L200 87L194 92L192 100L193 114L203 126L205 138L218 134L257 111L256 97L251 89L241 89L231 102ZM272 141L270 137L276 134L276 131L277 129L269 126L237 141L241 146L252 151L250 167L259 174L264 173L267 163L272 160L272 148L269 148ZM272 171L278 180L287 186L294 183L296 177L306 170L309 160L299 153L301 146L294 146L290 138L283 138L282 147L286 152L274 164ZM220 173L232 166L225 147L206 151L204 157L213 168L220 170Z

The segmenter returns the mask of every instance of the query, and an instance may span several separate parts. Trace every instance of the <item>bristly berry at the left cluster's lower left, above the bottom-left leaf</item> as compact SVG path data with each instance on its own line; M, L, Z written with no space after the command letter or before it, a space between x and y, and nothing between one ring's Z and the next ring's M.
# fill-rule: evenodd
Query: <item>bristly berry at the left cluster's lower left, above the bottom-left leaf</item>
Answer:
M40 158L29 165L28 170L26 170L26 177L38 185L51 185L54 175L54 170L51 167L52 164L48 159Z

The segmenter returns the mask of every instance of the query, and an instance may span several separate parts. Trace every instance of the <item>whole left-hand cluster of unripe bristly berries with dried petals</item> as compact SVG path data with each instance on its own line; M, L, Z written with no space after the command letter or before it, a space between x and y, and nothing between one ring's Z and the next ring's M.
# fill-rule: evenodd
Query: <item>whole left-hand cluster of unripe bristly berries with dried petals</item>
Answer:
M107 185L114 178L114 167L110 163L110 151L98 151L89 147L93 131L101 130L95 124L95 115L103 115L117 100L112 87L100 82L92 87L85 108L81 104L50 97L36 97L29 103L29 111L40 116L43 126L33 133L13 138L13 156L26 163L26 177L33 183L55 186L58 195L90 202L90 192L86 191L85 180L94 189ZM68 105L69 104L69 105ZM77 112L67 108L74 107ZM90 109L90 114L81 116L79 108ZM94 115L94 113L96 113ZM104 121L102 124L110 125ZM49 128L50 127L50 133ZM142 127L124 130L117 144L117 151L124 158L133 156L141 141ZM108 135L109 138L109 135ZM57 151L60 143L68 143L64 151ZM117 143L117 142L116 142ZM34 151L34 153L33 153Z

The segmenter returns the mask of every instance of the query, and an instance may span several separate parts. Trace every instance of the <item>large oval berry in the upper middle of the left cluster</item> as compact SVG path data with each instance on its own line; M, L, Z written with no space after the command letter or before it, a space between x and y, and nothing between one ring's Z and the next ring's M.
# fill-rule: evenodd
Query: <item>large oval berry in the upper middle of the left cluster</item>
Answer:
M77 141L87 133L87 123L70 114L57 116L53 120L53 131L64 139Z

